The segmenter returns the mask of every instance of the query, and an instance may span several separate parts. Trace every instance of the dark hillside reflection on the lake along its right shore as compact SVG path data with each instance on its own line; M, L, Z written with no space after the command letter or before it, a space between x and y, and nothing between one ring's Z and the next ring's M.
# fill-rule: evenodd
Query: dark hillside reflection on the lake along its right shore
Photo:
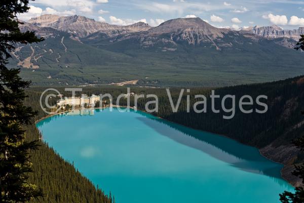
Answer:
M242 145L235 140L217 134L202 133L200 130L188 128L159 118L138 117L137 119L175 142L199 149L241 170L281 178L280 171L283 165L261 156L256 148ZM181 133L172 134L168 128L160 128L159 123L174 128Z

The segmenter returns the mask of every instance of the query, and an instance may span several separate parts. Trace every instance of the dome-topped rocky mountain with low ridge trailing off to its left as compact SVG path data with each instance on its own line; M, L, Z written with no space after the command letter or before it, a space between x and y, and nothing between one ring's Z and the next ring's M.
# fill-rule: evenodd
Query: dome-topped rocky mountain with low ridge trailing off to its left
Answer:
M186 45L210 45L220 50L221 46L231 46L230 44L220 43L221 39L227 33L235 35L234 32L229 29L220 29L213 27L200 18L177 18L168 20L157 27L152 27L146 31L133 32L125 35L106 36L99 35L96 37L95 33L83 39L86 43L95 44L98 43L111 44L123 42L125 40L133 40L133 43L138 44L141 48L157 48L156 51L175 51L178 44ZM95 41L97 40L97 41ZM104 40L102 42L102 40Z

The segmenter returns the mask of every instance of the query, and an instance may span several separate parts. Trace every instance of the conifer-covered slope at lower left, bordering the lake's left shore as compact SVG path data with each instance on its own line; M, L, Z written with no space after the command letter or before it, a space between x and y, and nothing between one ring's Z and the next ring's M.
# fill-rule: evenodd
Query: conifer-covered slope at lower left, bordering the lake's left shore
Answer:
M39 100L36 99L40 94L31 91L28 94L30 97L25 101L26 106L34 106L39 110L36 106L39 105ZM39 111L36 119L44 115ZM33 173L29 174L29 180L42 189L43 196L32 202L113 202L114 197L111 194L104 194L100 188L96 188L90 180L75 170L72 163L65 161L44 143L35 125L25 126L25 130L28 141L40 140L41 145L38 150L31 151Z

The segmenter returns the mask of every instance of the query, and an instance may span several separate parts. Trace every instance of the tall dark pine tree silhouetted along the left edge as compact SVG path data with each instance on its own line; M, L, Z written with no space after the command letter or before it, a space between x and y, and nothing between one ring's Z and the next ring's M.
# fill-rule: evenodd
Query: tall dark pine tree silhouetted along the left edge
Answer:
M25 107L24 89L30 82L18 76L20 69L6 67L10 52L17 43L40 42L33 32L21 32L17 15L29 10L28 0L0 1L0 188L1 202L26 202L40 196L41 191L28 183L32 172L29 150L36 142L25 142L22 126L31 122L35 112Z

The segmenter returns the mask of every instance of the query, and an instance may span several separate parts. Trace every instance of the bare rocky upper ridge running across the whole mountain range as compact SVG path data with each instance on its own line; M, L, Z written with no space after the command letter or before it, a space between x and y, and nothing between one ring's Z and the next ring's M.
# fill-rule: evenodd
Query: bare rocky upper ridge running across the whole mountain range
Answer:
M88 43L106 41L110 43L124 40L140 40L141 47L153 47L163 44L165 50L174 50L176 43L188 45L201 45L209 43L217 50L220 47L232 46L232 42L226 43L224 36L244 36L256 39L266 38L275 40L275 43L286 48L293 48L299 36L304 34L304 27L295 30L284 30L279 26L254 26L240 31L229 28L217 28L200 18L177 18L163 22L157 27L151 27L147 23L137 22L132 25L111 25L105 22L97 22L84 16L57 16L43 15L31 18L28 21L34 30L42 27L51 27L56 30L68 32L71 38ZM29 25L28 25L29 27ZM238 43L238 42L235 42ZM239 42L242 43L242 42Z

